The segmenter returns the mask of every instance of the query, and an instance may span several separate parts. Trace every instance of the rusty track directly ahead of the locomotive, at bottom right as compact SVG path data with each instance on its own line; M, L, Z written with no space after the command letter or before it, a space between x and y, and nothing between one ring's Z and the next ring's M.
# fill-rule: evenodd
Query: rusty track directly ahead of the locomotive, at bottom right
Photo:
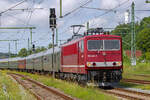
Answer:
M129 100L150 100L150 94L137 92L133 90L126 90L123 88L114 88L109 90L103 90L105 93L116 95Z

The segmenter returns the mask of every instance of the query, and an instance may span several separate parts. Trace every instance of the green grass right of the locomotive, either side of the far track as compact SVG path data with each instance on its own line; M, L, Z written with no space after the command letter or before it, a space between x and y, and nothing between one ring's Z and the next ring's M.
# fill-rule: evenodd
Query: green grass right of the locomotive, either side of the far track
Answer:
M150 80L150 77L136 76L136 75L150 75L150 63L137 63L136 66L131 66L129 63L124 63L123 78L137 79L137 80ZM149 90L150 85L139 85L120 82L120 85L131 88L139 88Z

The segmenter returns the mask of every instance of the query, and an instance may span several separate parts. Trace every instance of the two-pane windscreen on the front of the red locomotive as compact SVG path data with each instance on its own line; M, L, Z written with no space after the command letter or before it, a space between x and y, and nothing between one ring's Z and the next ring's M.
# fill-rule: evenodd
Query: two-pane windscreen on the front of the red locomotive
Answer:
M88 50L119 50L119 40L88 40Z

